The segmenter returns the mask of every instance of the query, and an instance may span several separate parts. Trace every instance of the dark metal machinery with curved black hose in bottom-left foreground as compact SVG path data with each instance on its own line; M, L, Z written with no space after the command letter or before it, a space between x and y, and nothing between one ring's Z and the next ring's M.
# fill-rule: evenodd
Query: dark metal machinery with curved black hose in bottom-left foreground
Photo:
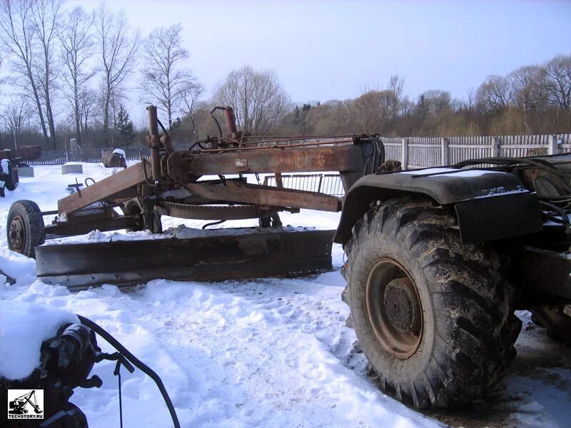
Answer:
M168 392L158 374L138 360L126 347L123 347L112 335L95 322L78 315L81 323L62 325L54 337L41 345L39 366L25 379L6 379L0 377L0 420L6 421L6 402L8 389L28 389L30 392L9 402L10 414L24 415L31 407L41 419L11 419L10 427L39 428L87 428L88 421L84 412L69 399L74 389L99 388L103 381L97 376L89 377L94 365L103 360L116 361L114 374L118 377L120 424L123 426L121 406L121 366L133 373L135 367L151 377L156 383L173 420L173 427L180 427L176 411ZM14 326L6 326L10 328ZM106 340L116 352L101 352L96 335ZM23 338L24 339L24 338ZM44 391L44 407L37 405L34 399L35 389Z

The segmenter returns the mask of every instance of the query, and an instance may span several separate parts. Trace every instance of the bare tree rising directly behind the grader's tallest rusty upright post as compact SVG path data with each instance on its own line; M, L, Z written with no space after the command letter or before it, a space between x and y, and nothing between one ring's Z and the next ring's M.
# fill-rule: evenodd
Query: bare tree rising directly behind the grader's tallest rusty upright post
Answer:
M154 29L145 41L141 99L156 104L166 113L168 126L173 124L173 115L188 109L201 92L200 83L188 68L181 68L188 58L188 50L182 46L181 24Z

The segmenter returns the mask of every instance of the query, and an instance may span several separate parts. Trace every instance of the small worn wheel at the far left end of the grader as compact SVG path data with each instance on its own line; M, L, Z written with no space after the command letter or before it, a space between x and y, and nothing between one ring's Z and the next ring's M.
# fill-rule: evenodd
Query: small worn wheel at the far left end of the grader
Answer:
M16 200L6 222L8 248L16 253L36 258L36 246L46 240L44 218L39 206L31 200Z

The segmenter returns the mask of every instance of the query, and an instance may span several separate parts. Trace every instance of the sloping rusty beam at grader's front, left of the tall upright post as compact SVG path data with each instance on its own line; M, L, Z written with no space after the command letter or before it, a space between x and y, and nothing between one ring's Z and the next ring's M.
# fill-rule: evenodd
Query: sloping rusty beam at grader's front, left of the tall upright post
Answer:
M150 163L145 160L144 164L147 174L150 173ZM74 213L101 200L116 200L115 195L121 195L123 200L134 198L137 195L136 186L145 182L143 163L137 163L126 170L103 178L103 180L82 189L81 192L73 193L58 200L58 212L60 215Z

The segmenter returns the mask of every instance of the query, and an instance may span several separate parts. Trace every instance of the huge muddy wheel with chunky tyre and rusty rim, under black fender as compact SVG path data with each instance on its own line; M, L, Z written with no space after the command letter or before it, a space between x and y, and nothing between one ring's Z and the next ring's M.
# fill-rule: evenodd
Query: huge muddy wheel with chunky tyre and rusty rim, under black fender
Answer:
M345 245L348 325L380 389L416 408L480 397L515 357L521 329L497 255L462 245L456 218L425 198L368 211Z

